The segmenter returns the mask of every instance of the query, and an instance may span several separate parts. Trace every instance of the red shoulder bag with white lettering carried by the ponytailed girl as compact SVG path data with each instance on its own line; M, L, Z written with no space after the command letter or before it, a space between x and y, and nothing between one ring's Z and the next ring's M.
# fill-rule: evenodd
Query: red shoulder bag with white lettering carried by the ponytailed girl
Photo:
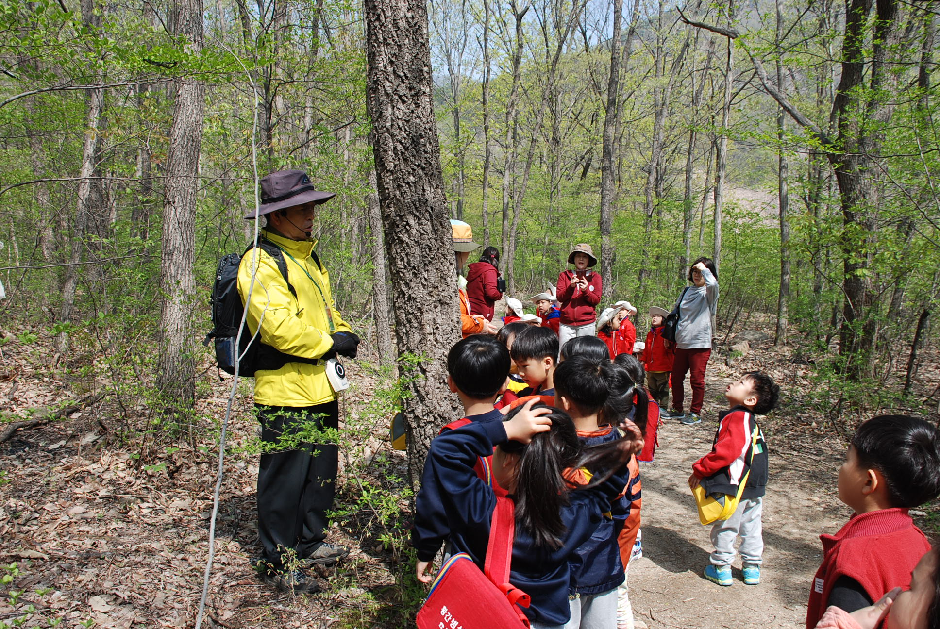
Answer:
M523 629L529 595L509 583L515 504L496 498L483 572L466 553L447 559L417 612L418 629Z

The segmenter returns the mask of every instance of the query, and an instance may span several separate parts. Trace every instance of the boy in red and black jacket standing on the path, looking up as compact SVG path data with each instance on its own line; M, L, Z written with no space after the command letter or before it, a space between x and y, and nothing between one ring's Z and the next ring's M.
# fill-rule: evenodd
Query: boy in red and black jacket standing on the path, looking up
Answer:
M731 408L718 416L712 451L692 464L689 486L701 485L706 494L736 495L739 485L747 483L731 517L712 526L714 550L711 563L705 567L705 578L720 586L731 585L731 561L736 555L734 541L738 537L744 585L760 583L763 555L760 512L767 487L767 447L754 415L772 411L779 395L780 387L760 371L749 371L741 380L728 385L725 398Z

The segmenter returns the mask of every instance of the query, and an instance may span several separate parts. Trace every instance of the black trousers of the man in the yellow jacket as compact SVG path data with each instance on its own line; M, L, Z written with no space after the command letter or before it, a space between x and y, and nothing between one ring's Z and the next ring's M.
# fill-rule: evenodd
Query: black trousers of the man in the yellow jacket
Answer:
M326 511L336 494L338 451L335 443L284 444L314 425L337 429L339 406L330 401L316 406L256 404L261 441L282 446L261 454L258 468L258 537L264 559L279 570L292 558L306 558L326 537ZM321 417L318 417L321 416ZM303 438L316 439L317 436ZM283 556L283 557L282 557Z

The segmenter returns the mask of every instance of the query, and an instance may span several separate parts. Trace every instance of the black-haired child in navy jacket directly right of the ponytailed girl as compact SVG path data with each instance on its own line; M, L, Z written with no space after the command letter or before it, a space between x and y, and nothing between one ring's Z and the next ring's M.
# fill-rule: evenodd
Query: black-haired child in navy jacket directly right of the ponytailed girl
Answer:
M609 358L585 354L567 356L556 370L556 405L572 416L578 439L585 447L609 443L622 435L616 427L598 423L615 370L622 368ZM630 512L630 504L622 495L625 486L612 501L610 514L572 559L569 598L573 626L613 628L617 624L618 586L623 583L624 570L615 518L622 522Z

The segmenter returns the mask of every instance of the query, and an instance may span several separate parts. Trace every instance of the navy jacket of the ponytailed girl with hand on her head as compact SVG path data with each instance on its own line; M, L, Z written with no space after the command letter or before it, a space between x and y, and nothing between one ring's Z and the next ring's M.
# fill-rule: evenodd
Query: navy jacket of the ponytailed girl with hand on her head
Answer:
M441 497L454 551L467 553L481 570L496 498L486 482L477 477L474 464L478 457L491 454L494 446L505 442L502 422L474 422L434 439L424 466L425 478L430 474L444 490ZM525 530L516 528L509 582L532 598L532 604L525 609L529 620L546 624L569 621L568 562L601 524L603 512L610 510L611 500L628 480L629 472L623 465L603 483L570 492L569 504L561 510L567 531L557 550L536 546Z

